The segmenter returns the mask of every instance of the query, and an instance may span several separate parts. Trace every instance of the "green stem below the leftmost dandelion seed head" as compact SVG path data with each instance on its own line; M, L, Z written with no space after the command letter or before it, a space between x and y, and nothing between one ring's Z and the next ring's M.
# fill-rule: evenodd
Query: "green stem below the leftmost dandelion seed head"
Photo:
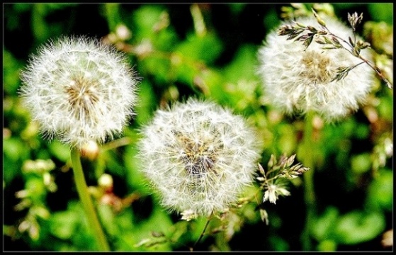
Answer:
M88 218L89 228L91 229L94 237L96 238L98 249L100 249L101 251L110 251L105 234L101 227L101 223L98 220L98 215L96 215L96 210L94 208L94 203L92 203L88 186L86 186L84 171L82 170L81 166L79 149L72 148L71 157L74 171L74 181L76 182L77 191L79 193L81 203L84 207L86 217Z

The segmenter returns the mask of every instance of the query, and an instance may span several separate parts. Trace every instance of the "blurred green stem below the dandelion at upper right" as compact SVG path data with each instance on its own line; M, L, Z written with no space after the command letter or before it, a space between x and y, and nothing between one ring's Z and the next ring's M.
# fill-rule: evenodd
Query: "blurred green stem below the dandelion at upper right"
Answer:
M312 220L315 217L315 188L314 188L314 170L315 170L315 142L313 136L313 113L307 113L305 122L304 137L302 142L303 164L310 170L303 174L304 177L304 200L307 208L307 216L305 219L305 229L302 232L302 249L310 251L312 249L310 239L310 228Z

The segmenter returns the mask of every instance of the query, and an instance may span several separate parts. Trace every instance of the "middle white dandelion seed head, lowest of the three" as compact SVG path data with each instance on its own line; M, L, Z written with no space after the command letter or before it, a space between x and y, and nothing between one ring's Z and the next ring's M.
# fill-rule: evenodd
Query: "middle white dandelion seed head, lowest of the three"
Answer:
M193 215L227 210L251 184L260 157L244 118L196 98L157 111L139 147L162 205Z

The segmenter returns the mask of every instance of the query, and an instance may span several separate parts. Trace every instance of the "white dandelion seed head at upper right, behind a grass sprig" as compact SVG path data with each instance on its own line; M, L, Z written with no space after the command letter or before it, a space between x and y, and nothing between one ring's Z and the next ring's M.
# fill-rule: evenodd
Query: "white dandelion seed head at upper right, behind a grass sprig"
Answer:
M318 27L314 17L297 21ZM353 38L351 28L340 21L330 17L324 21L335 35L346 40ZM288 22L281 25L285 24ZM258 54L258 73L264 82L266 100L287 114L313 111L328 122L357 111L373 86L373 69L363 63L344 79L332 81L337 68L352 67L362 60L345 49L324 50L322 47L313 41L305 50L300 41L287 40L276 31L269 33ZM371 59L368 49L362 50L361 55Z

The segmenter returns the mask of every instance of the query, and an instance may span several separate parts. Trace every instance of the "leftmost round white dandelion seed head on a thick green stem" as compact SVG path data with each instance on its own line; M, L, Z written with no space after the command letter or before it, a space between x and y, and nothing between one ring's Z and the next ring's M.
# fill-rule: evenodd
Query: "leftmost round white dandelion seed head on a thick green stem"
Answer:
M43 45L21 74L20 95L46 137L72 147L123 130L137 101L135 72L113 47L86 37Z

